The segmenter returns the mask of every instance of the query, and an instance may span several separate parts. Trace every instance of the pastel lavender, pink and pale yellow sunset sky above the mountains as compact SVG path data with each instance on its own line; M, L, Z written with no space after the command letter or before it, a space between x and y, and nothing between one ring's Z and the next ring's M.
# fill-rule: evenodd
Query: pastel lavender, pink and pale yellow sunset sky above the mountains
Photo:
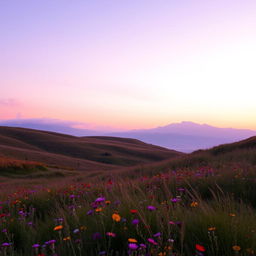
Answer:
M255 0L0 0L0 120L256 130Z

